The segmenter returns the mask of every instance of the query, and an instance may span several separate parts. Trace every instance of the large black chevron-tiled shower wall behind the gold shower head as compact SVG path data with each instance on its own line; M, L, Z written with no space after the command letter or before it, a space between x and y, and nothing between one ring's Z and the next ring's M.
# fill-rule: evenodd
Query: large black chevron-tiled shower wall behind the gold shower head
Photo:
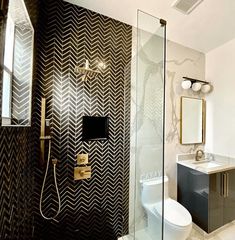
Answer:
M34 239L114 240L128 233L130 61L129 25L62 0L42 0L37 31L33 128L35 163L39 163L40 99L47 99L52 155L59 160L57 177L61 213L56 221L39 214L44 169L34 169ZM95 79L82 81L76 66L89 60ZM82 116L109 116L110 139L81 140ZM73 180L77 153L88 152L92 178ZM43 211L57 209L52 172L45 188Z

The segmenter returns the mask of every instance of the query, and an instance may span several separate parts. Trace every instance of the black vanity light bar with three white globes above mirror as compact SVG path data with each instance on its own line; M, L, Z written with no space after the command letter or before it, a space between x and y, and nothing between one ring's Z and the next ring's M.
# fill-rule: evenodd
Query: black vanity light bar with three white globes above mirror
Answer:
M201 90L202 93L209 93L212 90L212 86L209 82L188 77L183 77L183 79L181 87L185 90L191 88L194 92L199 92Z

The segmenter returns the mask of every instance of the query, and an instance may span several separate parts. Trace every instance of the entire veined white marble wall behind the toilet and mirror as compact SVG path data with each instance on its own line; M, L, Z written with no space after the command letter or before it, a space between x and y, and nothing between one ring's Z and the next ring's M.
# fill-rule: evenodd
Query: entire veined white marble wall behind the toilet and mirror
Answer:
M143 36L143 35L142 35ZM146 214L141 204L142 174L162 169L163 137L163 77L161 38L149 38L141 53L142 72L138 69L136 83L136 29L133 29L131 83L131 156L130 156L130 218L129 232L146 227ZM157 49L158 48L158 49ZM150 50L152 49L152 51ZM155 49L155 51L153 51ZM161 58L161 59L160 59ZM170 196L176 198L176 154L194 152L198 145L179 143L180 97L197 97L192 91L181 89L183 76L204 79L204 54L174 42L167 42L165 171L168 175ZM138 95L136 91L138 89ZM199 96L202 97L202 96ZM138 121L138 129L136 129ZM137 134L136 134L137 133ZM137 146L135 145L138 136ZM137 155L136 155L137 154ZM136 189L135 189L136 188ZM136 192L135 192L136 190ZM135 216L135 218L134 218ZM134 228L135 227L135 228Z

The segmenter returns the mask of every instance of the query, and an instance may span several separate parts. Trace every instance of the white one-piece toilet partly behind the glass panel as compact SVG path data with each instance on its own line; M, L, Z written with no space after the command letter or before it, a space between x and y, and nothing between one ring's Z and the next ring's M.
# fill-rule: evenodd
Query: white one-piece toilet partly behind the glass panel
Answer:
M142 205L147 212L147 231L152 239L160 239L162 221L162 177L142 180ZM168 195L168 177L164 177L164 240L185 240L192 229L188 210Z

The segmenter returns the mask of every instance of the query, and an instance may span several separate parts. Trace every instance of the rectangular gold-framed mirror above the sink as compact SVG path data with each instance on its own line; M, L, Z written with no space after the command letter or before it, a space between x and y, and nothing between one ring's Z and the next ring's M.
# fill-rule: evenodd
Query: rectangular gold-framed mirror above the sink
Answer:
M205 143L205 100L181 97L180 143Z

